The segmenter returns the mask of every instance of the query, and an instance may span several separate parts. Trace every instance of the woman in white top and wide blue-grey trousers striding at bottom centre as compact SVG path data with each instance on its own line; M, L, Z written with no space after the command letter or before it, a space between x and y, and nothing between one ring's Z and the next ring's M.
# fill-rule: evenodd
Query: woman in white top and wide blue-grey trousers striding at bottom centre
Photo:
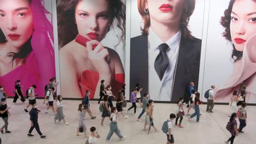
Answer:
M120 140L124 139L124 136L120 133L120 130L117 125L117 122L118 122L117 112L118 112L117 107L112 107L111 119L110 119L111 122L109 124L110 130L108 132L106 141L111 141L110 138L113 135L113 133L117 134Z

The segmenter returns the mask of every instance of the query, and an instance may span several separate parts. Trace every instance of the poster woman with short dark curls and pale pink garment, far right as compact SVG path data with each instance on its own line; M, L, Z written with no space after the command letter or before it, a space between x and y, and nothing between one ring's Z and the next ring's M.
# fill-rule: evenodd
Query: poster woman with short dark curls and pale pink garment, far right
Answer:
M247 102L256 103L256 1L231 0L220 23L225 28L223 37L233 46L234 68L216 98L228 101L234 90L240 93L246 86Z

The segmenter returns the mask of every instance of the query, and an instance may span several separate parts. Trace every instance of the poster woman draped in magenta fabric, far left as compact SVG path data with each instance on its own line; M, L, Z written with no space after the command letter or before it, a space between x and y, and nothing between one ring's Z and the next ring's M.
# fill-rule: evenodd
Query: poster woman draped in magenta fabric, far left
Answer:
M7 7L8 6L8 7ZM55 76L53 26L43 0L0 1L0 84L14 95L10 82L24 89L36 83L39 97Z

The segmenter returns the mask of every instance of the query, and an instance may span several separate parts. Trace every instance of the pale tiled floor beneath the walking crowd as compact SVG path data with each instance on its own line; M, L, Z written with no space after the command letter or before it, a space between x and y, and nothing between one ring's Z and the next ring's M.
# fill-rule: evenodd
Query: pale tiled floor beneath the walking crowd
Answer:
M8 99L8 105L11 104L12 99ZM53 113L50 110L49 114L44 114L45 105L43 100L37 100L38 109L42 110L39 113L39 125L42 133L47 135L46 139L40 139L36 130L34 129L34 137L27 137L27 131L30 128L30 121L28 113L24 112L25 105L18 101L18 104L12 105L10 109L11 116L9 118L9 130L11 134L1 134L2 143L8 144L38 144L38 143L85 143L86 138L83 136L75 136L76 129L78 126L78 104L80 101L64 100L65 108L63 109L66 115L66 121L69 125L64 125L62 122L55 124L53 122ZM127 106L130 106L129 103ZM141 108L137 109L137 113L133 114L133 110L125 111L125 114L129 116L127 119L119 118L119 129L121 133L126 136L126 139L121 141L114 134L112 136L112 142L106 142L106 136L109 130L109 119L105 119L104 124L106 127L100 127L101 114L98 110L99 105L96 101L91 101L91 109L96 113L97 118L92 120L86 115L85 123L88 128L94 126L97 128L98 133L101 134L101 138L98 139L97 143L134 143L134 144L144 144L144 143L166 143L166 135L161 132L162 123L166 121L171 112L176 109L175 104L155 104L154 109L154 119L155 125L160 130L159 132L143 131L144 122L137 122L136 117L141 112ZM127 108L125 108L127 109ZM185 110L186 111L186 110ZM191 110L193 112L194 110ZM196 143L196 144L218 144L224 143L225 140L230 136L229 132L225 129L226 123L229 120L227 113L229 112L229 107L227 105L216 105L214 107L214 113L207 113L205 111L205 105L200 106L200 111L202 116L200 118L201 123L188 122L188 118L184 117L182 124L184 128L174 128L174 140L175 143ZM256 143L255 139L255 129L256 129L256 111L255 106L248 106L248 125L244 129L245 133L239 134L236 137L234 143ZM145 116L145 115L144 115ZM143 116L143 120L144 120ZM2 119L0 119L0 125L3 125Z

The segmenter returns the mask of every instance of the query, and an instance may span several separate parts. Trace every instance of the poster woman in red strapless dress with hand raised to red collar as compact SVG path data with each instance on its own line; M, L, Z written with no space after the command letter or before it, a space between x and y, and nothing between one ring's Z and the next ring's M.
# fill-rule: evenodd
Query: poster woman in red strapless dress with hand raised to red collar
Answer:
M121 0L58 0L57 21L60 47L61 94L82 98L85 90L97 98L100 80L113 86L117 94L124 83L124 69L118 53L101 41L117 27L119 43L125 36L125 5ZM75 42L77 35L90 41L85 46ZM92 47L96 46L96 47ZM96 96L95 96L96 95Z

